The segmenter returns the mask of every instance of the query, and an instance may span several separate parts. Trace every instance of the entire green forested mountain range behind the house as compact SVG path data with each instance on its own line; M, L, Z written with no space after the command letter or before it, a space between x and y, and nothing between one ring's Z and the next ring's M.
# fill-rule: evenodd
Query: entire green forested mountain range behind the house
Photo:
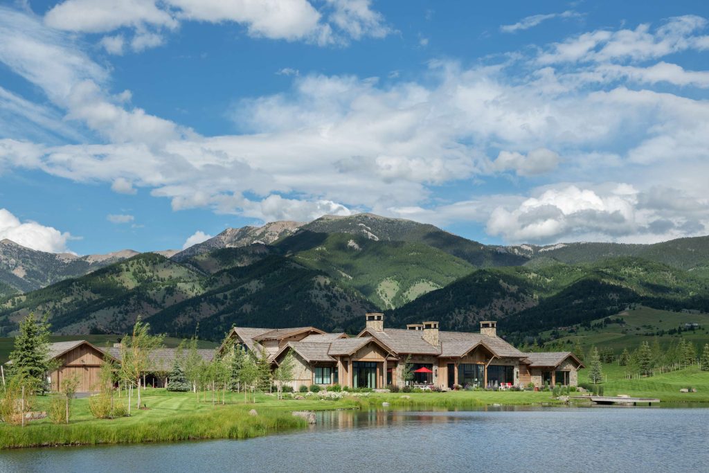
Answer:
M451 330L504 321L510 337L584 323L630 304L709 311L709 237L654 245L484 245L369 213L228 228L181 252L55 255L0 243L0 333L30 311L60 334L123 333L138 315L169 335L232 325L388 323Z

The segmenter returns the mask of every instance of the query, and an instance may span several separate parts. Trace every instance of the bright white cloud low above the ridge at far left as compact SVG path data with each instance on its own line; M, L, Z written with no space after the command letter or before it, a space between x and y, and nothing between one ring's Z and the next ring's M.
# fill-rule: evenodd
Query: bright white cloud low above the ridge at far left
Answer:
M4 238L33 250L60 253L69 251L67 241L72 235L37 222L21 222L6 208L0 208L0 240Z

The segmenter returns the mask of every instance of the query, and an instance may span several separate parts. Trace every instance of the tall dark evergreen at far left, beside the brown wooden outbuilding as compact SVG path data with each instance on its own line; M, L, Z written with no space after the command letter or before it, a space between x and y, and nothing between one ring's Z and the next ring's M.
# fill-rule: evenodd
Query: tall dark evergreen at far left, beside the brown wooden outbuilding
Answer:
M45 316L35 319L30 313L20 323L20 334L15 337L15 349L10 354L11 374L36 383L40 391L48 390L46 374L54 367L49 360L50 325Z

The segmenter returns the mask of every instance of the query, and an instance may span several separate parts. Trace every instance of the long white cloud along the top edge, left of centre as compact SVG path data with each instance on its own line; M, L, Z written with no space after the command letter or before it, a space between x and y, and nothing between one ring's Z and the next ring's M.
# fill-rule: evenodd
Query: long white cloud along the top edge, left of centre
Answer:
M123 53L128 43L135 52L162 45L164 33L182 21L233 22L252 37L319 45L390 33L369 0L327 0L318 6L308 0L65 0L46 13L45 23L76 33L133 30L130 42L122 35L100 41L111 54Z

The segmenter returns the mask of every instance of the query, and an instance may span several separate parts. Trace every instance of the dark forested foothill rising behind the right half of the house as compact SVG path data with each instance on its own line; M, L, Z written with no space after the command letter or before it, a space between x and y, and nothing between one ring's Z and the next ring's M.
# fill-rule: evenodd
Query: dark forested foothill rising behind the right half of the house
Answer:
M610 316L631 304L709 312L709 284L691 272L628 257L593 265L482 269L389 315L401 324L437 320L449 330L477 330L479 321L493 318L503 321L498 330L515 341Z

